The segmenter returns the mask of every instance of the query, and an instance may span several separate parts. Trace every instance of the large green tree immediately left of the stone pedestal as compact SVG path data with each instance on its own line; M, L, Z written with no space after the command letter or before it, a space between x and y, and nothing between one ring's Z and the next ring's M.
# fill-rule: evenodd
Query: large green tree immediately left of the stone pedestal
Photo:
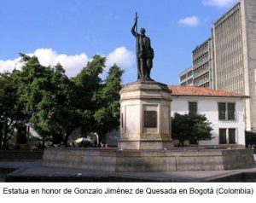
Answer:
M106 59L95 55L86 67L73 78L76 87L76 107L80 112L82 134L97 132L99 139L119 127L119 90L123 71L110 67L102 81Z

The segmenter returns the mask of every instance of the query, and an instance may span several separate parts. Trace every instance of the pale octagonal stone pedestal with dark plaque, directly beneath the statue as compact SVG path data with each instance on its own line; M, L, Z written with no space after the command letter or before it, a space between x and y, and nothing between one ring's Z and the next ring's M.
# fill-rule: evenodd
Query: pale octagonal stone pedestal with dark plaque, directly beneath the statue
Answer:
M172 148L171 91L166 84L142 81L120 91L119 149Z

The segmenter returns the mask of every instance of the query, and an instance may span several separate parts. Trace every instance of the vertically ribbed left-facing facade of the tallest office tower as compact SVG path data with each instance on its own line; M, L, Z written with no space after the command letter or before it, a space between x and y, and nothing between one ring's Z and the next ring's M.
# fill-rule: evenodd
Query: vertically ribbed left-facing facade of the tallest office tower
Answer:
M215 88L245 93L240 3L212 26Z

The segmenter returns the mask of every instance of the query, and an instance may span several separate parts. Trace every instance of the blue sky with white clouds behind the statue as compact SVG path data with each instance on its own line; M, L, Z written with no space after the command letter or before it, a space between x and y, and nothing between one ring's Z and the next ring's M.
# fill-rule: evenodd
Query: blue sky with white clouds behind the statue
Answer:
M152 78L178 84L191 64L191 51L211 36L237 0L3 0L0 7L0 71L19 68L18 53L37 55L45 65L60 62L68 76L93 55L125 69L123 83L137 79L135 12L154 48Z

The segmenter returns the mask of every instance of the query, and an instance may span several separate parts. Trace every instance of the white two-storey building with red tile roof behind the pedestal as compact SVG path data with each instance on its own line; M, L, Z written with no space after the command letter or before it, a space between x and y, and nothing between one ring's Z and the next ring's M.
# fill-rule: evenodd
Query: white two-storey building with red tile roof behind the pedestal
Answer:
M193 86L169 86L174 113L201 113L212 123L210 141L204 146L245 147L245 116L243 102L248 96Z

